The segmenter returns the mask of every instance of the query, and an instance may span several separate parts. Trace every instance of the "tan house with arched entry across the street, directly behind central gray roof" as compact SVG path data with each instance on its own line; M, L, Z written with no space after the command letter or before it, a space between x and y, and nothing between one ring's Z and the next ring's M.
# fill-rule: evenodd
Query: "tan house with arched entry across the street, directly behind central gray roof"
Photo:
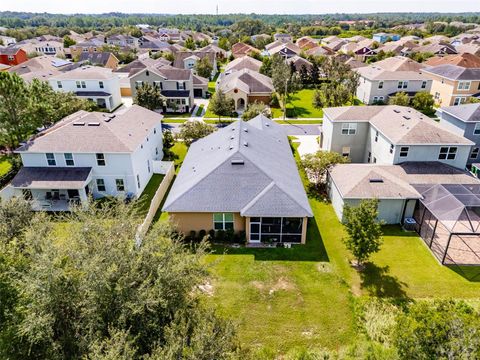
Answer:
M250 69L220 74L217 90L235 101L235 110L242 111L255 101L269 104L275 88L272 79Z

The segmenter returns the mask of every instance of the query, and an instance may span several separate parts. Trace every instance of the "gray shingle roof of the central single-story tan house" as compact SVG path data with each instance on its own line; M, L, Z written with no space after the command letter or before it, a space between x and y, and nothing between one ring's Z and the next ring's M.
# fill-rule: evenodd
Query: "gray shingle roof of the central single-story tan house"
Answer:
M287 136L262 115L193 143L163 210L312 216Z

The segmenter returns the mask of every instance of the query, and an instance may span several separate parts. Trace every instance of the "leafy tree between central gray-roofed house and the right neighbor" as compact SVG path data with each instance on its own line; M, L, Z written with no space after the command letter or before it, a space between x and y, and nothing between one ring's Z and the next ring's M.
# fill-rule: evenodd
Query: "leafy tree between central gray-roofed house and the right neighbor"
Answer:
M308 179L317 191L322 191L327 181L327 172L335 164L349 162L347 157L333 151L317 151L316 153L303 156L302 167L305 169Z

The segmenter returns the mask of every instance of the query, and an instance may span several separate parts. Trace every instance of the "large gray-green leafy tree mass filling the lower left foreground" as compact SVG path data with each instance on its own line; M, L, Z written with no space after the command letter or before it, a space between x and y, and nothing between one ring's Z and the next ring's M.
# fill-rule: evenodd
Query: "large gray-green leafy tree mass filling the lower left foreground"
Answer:
M200 298L206 244L186 248L168 223L139 243L135 205L74 209L62 218L61 241L55 220L38 214L20 243L2 248L9 252L0 260L16 261L0 261L10 292L4 297L0 287L0 309L12 303L1 314L2 359L227 359L236 352L234 327Z

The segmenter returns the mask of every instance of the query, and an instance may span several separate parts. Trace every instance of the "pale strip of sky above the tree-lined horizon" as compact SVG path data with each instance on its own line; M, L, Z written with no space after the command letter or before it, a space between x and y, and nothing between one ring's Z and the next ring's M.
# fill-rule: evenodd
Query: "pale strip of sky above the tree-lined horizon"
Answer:
M0 0L0 11L49 13L325 14L477 12L480 0Z

